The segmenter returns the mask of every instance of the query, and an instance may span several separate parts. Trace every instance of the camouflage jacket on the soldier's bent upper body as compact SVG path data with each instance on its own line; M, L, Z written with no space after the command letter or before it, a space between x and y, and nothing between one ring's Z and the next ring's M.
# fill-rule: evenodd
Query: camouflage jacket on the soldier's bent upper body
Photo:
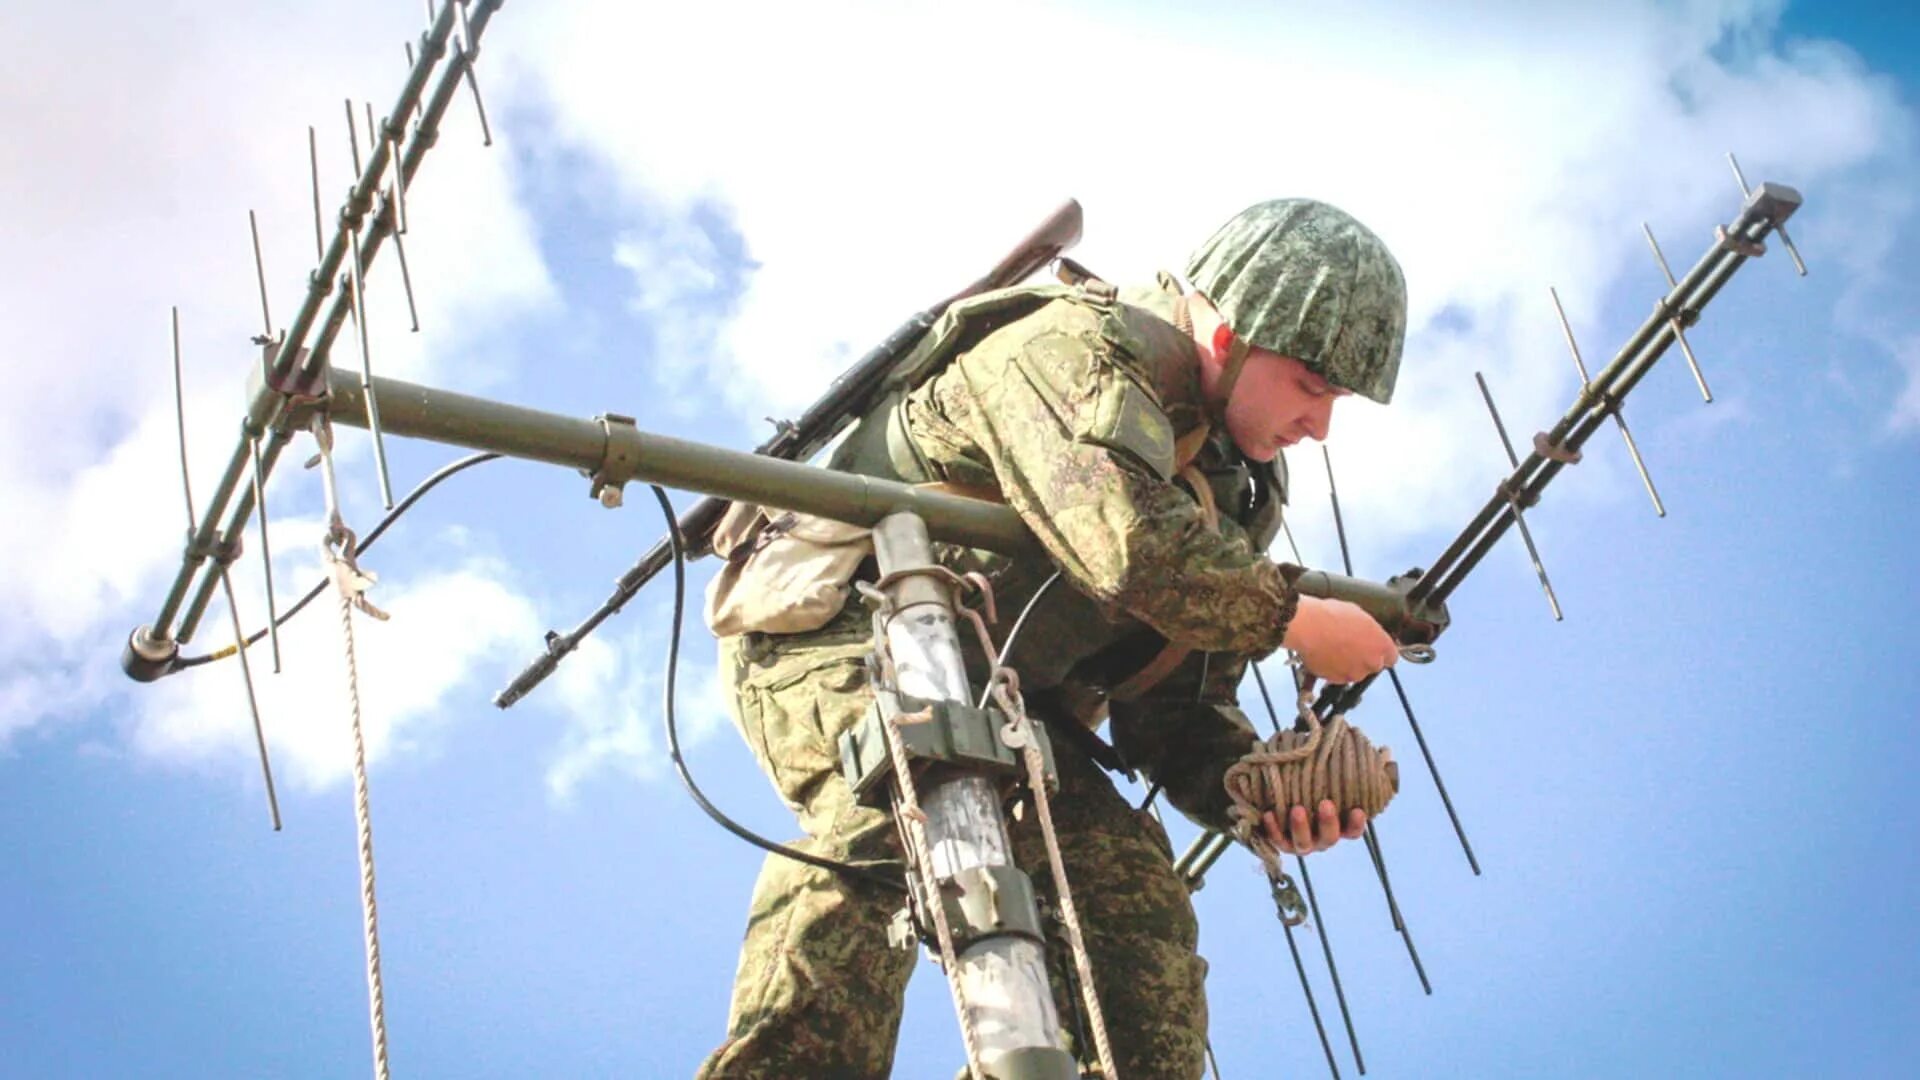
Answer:
M1121 755L1183 811L1221 824L1219 773L1254 742L1235 686L1248 657L1279 648L1296 569L1265 555L1281 475L1256 473L1225 432L1208 432L1192 465L1213 488L1217 530L1173 475L1177 444L1208 423L1196 350L1169 321L1175 296L1167 281L1117 298L1062 290L868 417L833 463L996 490L1050 559L952 546L939 557L993 580L996 636L1062 571L1071 588L1046 592L1006 657L1027 698L1092 723L1110 705ZM1108 703L1167 640L1192 655L1144 698Z

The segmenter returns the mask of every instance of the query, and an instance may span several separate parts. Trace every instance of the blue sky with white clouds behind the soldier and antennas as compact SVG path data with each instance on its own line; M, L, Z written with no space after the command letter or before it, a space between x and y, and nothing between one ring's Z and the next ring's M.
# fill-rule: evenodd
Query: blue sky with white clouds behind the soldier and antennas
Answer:
M0 1074L371 1068L336 619L292 621L278 675L252 653L280 832L232 661L142 686L117 659L180 559L169 311L205 498L263 329L248 211L284 327L313 267L305 129L330 219L342 102L394 100L420 17L0 10ZM1409 282L1394 404L1342 404L1329 440L1356 573L1384 578L1503 475L1473 373L1509 430L1549 427L1578 380L1548 288L1603 363L1663 290L1642 223L1684 273L1740 206L1732 150L1805 194L1811 273L1770 242L1713 302L1690 334L1711 405L1678 356L1630 398L1668 515L1597 432L1528 515L1565 623L1507 538L1438 661L1405 673L1482 876L1392 696L1354 717L1404 763L1379 824L1432 995L1361 847L1311 859L1319 917L1371 1076L1901 1076L1920 1051L1920 676L1899 659L1920 605L1916 46L1891 6L1749 0L509 4L478 71L493 146L463 94L409 192L420 332L384 254L372 363L751 448L1064 196L1087 209L1075 256L1116 281L1177 267L1250 202L1315 196ZM321 573L309 450L269 484L282 603ZM388 444L396 488L455 455ZM338 457L365 530L372 454L342 432ZM1319 454L1292 471L1302 559L1338 569ZM399 1074L685 1076L724 1036L760 857L666 765L668 582L492 705L659 536L651 500L586 494L492 463L365 557L392 611L355 634ZM250 626L257 552L234 573ZM230 636L217 601L186 651ZM697 625L680 690L708 794L793 836ZM1321 1072L1252 859L1196 907L1221 1074ZM958 1063L922 970L897 1074Z

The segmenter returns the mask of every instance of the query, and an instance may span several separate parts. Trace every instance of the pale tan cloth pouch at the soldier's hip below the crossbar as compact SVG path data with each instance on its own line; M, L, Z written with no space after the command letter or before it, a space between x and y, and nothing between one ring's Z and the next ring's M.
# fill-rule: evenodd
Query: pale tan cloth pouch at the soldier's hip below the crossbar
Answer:
M707 586L716 636L818 630L839 615L852 575L874 553L874 532L829 517L733 503L714 528L726 559Z

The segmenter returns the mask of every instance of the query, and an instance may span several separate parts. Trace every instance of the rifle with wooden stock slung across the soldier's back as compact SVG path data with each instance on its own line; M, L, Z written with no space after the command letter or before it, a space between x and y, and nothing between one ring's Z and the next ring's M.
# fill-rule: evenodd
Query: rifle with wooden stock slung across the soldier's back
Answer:
M799 421L776 423L774 434L756 446L755 454L785 461L810 459L826 444L833 442L843 430L847 430L847 425L866 415L881 388L885 388L887 377L899 361L912 352L914 344L920 342L920 338L933 327L947 307L970 296L991 292L995 288L1006 288L1027 279L1079 242L1081 223L1081 206L1077 200L1069 198L1054 209L1046 221L1016 244L1014 250L1008 252L1006 258L1002 258L991 271L981 275L979 281L900 323L900 327L887 334L883 342L874 346L866 356L856 359L852 367L843 371L833 384L828 386L828 392L822 394L818 402L808 405L804 413L801 413ZM732 500L707 496L680 517L680 534L685 538L685 553L689 557L699 557L710 552L712 532L730 505ZM612 596L609 596L607 601L588 615L578 626L566 634L547 630L545 651L534 657L534 661L528 663L505 690L495 694L493 703L507 709L520 698L526 698L528 692L540 686L543 678L553 675L561 661L566 659L566 653L580 648L582 638L597 630L601 623L626 607L626 601L634 600L634 596L637 596L655 575L666 569L672 563L672 544L666 538L655 542L637 563L620 575L620 580L614 582Z

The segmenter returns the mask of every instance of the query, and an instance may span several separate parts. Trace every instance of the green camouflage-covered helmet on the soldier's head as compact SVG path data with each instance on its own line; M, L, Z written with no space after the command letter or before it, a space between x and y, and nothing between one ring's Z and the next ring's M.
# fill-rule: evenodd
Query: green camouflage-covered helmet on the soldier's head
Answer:
M1394 396L1407 284L1346 211L1309 198L1250 206L1192 254L1187 281L1248 344L1382 405Z

